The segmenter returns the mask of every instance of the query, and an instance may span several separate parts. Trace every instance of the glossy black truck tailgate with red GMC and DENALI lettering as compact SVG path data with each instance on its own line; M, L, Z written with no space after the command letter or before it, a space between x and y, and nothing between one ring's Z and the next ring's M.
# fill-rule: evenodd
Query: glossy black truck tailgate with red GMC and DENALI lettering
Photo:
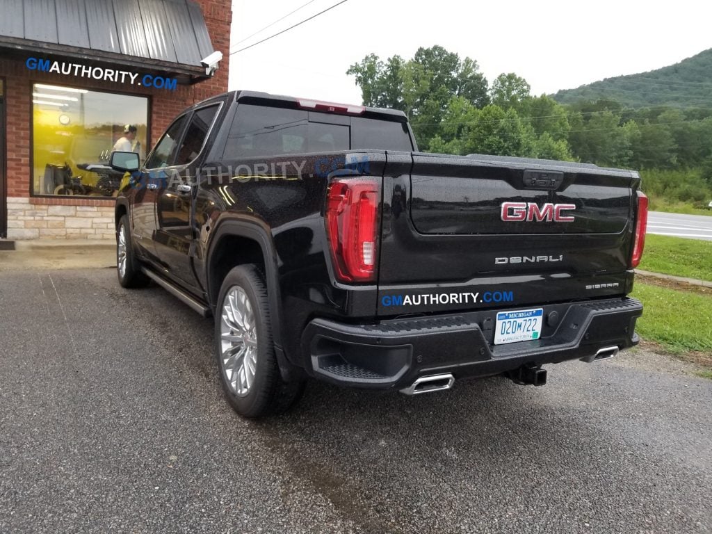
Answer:
M388 161L380 315L521 308L629 290L636 173L489 156Z

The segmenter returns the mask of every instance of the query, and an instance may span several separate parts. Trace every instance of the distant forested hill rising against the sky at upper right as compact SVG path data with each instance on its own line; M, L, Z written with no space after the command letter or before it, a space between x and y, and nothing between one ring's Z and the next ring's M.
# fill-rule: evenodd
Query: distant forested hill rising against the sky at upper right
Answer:
M628 108L651 105L712 108L712 48L647 73L606 78L580 88L560 90L553 98L565 104L616 100Z

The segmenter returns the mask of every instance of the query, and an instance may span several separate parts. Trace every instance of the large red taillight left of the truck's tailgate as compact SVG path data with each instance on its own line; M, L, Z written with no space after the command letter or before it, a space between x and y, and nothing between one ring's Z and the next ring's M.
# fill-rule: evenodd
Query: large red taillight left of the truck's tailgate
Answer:
M376 279L380 189L372 178L331 182L326 199L326 231L336 277L342 282Z

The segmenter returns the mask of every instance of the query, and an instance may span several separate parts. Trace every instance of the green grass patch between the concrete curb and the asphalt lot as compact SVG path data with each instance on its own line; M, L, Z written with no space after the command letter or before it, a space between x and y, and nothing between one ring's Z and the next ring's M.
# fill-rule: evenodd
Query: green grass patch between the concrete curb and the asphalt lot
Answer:
M645 283L637 283L632 296L644 305L636 331L645 340L674 354L712 353L711 296Z

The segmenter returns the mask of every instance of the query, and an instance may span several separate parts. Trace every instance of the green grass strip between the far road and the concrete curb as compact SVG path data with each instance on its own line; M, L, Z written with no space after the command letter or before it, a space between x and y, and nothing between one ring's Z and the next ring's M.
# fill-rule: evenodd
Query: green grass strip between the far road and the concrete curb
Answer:
M712 241L648 234L639 268L712 282Z

